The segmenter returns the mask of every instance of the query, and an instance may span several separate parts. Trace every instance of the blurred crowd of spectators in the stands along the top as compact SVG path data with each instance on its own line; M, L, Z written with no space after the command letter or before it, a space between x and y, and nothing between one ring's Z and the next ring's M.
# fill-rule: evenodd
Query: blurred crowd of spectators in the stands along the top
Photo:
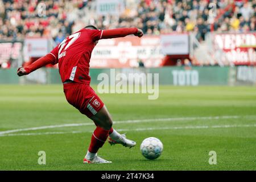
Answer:
M209 12L212 2L216 14L222 16L214 18L214 12ZM65 36L88 24L104 29L135 26L145 34L154 35L195 32L198 40L204 40L211 30L255 30L256 1L124 0L124 3L125 10L117 16L98 15L93 0L0 0L0 39L49 36L60 43Z

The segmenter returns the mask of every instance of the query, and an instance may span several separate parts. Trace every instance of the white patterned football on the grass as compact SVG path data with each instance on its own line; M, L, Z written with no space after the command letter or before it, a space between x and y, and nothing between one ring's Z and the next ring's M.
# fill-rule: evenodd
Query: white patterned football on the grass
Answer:
M141 152L142 155L150 160L158 158L163 151L163 143L155 137L149 137L142 141Z

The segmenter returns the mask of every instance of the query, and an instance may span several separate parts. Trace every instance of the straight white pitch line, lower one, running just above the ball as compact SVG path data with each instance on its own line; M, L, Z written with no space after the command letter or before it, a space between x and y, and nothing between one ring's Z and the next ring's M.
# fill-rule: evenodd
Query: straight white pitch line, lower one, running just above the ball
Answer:
M228 129L236 127L256 127L256 123L251 125L200 125L200 126L175 126L175 127L150 127L138 129L118 129L117 131L150 131L150 130L185 130L185 129ZM19 133L19 134L5 134L0 137L12 136L34 136L34 135L55 135L55 134L77 134L77 133L92 133L93 131L67 131L67 132L46 132L46 133Z

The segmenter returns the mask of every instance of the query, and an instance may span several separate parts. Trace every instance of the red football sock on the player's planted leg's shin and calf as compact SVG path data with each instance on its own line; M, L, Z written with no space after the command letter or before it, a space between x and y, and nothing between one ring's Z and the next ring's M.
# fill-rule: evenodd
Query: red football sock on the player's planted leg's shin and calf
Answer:
M106 139L109 137L110 130L104 130L97 126L93 132L92 139L88 151L97 153L97 151L104 145Z

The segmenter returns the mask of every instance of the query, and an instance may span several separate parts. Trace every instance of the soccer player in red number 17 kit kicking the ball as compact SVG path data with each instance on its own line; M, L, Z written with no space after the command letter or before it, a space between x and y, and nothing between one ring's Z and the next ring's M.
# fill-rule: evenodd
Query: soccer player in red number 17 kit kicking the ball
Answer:
M98 150L108 137L110 144L119 143L125 147L134 147L136 144L133 140L127 139L125 134L119 134L113 129L113 121L109 111L89 85L89 62L98 40L119 38L132 34L139 38L143 36L142 30L138 28L97 30L94 26L86 26L75 34L68 36L46 56L41 57L27 67L20 67L17 71L18 76L23 76L47 64L59 63L59 73L67 101L82 114L92 119L96 125L84 163L111 163L97 156Z

